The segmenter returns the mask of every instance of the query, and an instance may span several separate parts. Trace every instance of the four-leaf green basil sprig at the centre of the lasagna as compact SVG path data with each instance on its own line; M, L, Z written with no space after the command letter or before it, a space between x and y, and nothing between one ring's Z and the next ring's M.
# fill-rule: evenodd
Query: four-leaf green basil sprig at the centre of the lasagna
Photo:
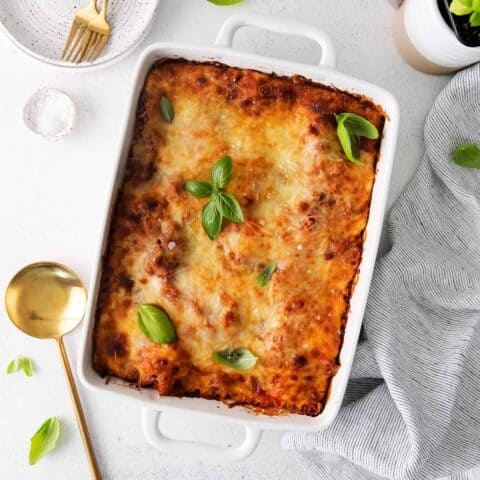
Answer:
M212 168L212 184L208 182L194 182L187 180L185 189L197 198L212 197L202 209L202 225L211 240L216 238L222 230L223 219L231 222L243 223L245 221L242 208L237 199L231 194L224 192L232 179L232 159L229 156L222 157Z

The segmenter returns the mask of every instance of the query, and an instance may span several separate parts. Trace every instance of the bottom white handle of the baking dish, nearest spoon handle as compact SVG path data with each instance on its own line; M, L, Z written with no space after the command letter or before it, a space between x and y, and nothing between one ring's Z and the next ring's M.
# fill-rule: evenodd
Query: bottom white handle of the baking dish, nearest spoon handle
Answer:
M164 453L177 456L195 456L200 460L214 463L233 462L250 456L257 448L262 430L245 427L245 437L237 445L216 447L208 443L175 440L165 436L160 430L161 411L145 408L143 410L143 432L148 443Z

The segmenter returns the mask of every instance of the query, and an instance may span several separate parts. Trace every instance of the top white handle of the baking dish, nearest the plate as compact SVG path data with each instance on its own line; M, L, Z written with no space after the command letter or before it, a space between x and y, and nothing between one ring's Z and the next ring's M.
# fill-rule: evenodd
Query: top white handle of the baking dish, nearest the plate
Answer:
M215 45L221 47L231 47L233 37L236 31L241 27L257 27L270 30L276 33L286 33L309 38L318 43L322 49L320 66L335 68L335 49L330 36L308 23L297 20L289 20L282 17L272 17L270 15L258 15L251 13L242 13L232 15L227 18L218 32Z

